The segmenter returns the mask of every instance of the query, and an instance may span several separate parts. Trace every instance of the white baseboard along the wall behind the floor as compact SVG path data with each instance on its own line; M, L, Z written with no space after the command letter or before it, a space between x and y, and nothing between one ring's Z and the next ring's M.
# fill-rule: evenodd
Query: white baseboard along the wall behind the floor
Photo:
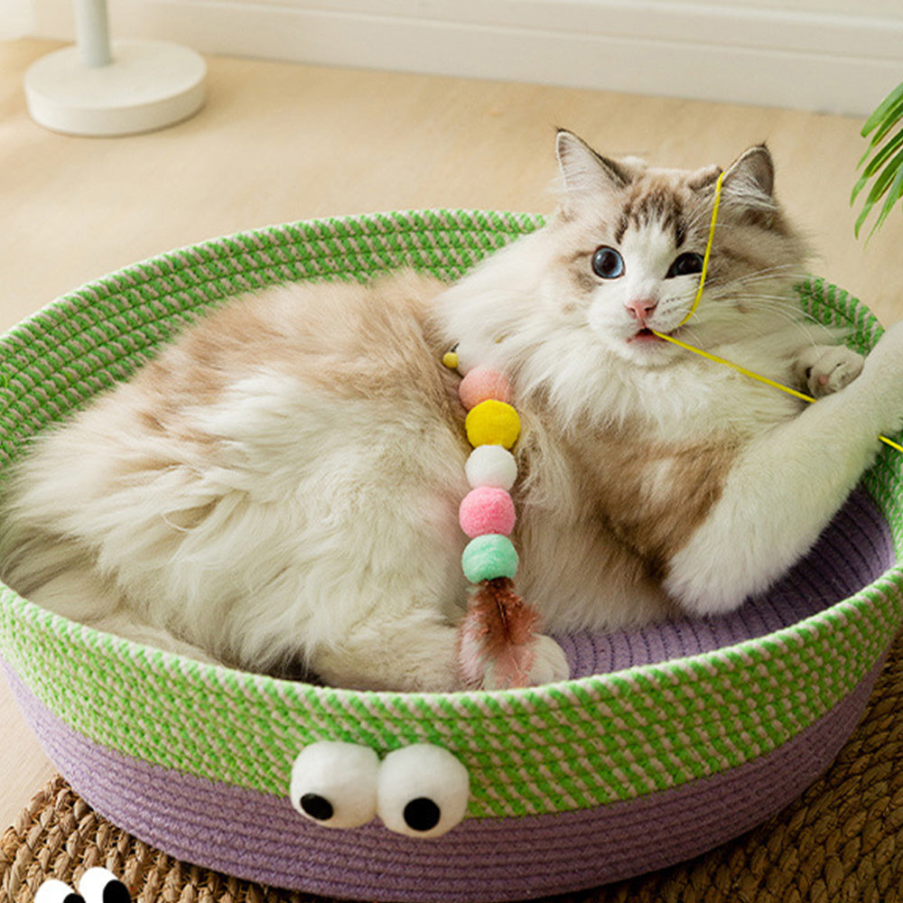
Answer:
M109 0L114 37L205 53L862 116L903 80L903 14L684 0ZM34 0L72 40L70 0Z

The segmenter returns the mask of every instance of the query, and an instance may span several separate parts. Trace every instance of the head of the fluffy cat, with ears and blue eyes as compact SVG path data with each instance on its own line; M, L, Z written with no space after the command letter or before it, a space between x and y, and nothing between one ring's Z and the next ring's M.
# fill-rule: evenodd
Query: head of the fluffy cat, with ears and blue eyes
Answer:
M725 172L705 292L685 324L720 170L611 161L567 132L559 134L558 156L565 183L552 229L562 265L558 293L621 358L660 366L682 353L653 330L703 346L736 338L743 315L772 307L799 275L803 247L774 200L764 146Z

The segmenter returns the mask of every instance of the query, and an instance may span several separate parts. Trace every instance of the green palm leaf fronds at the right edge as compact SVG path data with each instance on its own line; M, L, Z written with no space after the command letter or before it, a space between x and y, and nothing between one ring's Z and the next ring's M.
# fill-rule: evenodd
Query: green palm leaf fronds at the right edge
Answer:
M859 162L862 172L853 186L850 202L853 203L871 182L854 227L858 237L871 210L883 199L869 233L871 237L888 219L897 202L903 199L903 84L881 101L862 126L861 134L863 137L871 135L871 139Z

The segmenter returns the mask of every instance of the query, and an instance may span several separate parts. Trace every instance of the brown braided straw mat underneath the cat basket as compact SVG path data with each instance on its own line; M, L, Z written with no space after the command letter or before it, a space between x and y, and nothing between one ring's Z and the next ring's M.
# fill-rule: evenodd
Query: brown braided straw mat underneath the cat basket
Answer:
M135 903L302 903L173 860L96 815L61 777L0 841L0 903L32 903L42 881L74 886L104 865ZM903 638L868 712L827 774L780 815L674 868L561 903L898 903L903 901Z

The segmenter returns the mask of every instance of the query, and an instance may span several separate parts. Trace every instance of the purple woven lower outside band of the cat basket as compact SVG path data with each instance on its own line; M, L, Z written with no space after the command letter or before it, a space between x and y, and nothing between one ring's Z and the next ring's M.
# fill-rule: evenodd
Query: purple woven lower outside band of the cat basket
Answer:
M10 671L44 749L88 804L183 861L288 889L416 903L516 900L585 889L691 859L775 815L830 765L880 671L780 749L716 777L563 815L467 819L418 841L373 823L311 824L287 798L216 784L97 746Z

